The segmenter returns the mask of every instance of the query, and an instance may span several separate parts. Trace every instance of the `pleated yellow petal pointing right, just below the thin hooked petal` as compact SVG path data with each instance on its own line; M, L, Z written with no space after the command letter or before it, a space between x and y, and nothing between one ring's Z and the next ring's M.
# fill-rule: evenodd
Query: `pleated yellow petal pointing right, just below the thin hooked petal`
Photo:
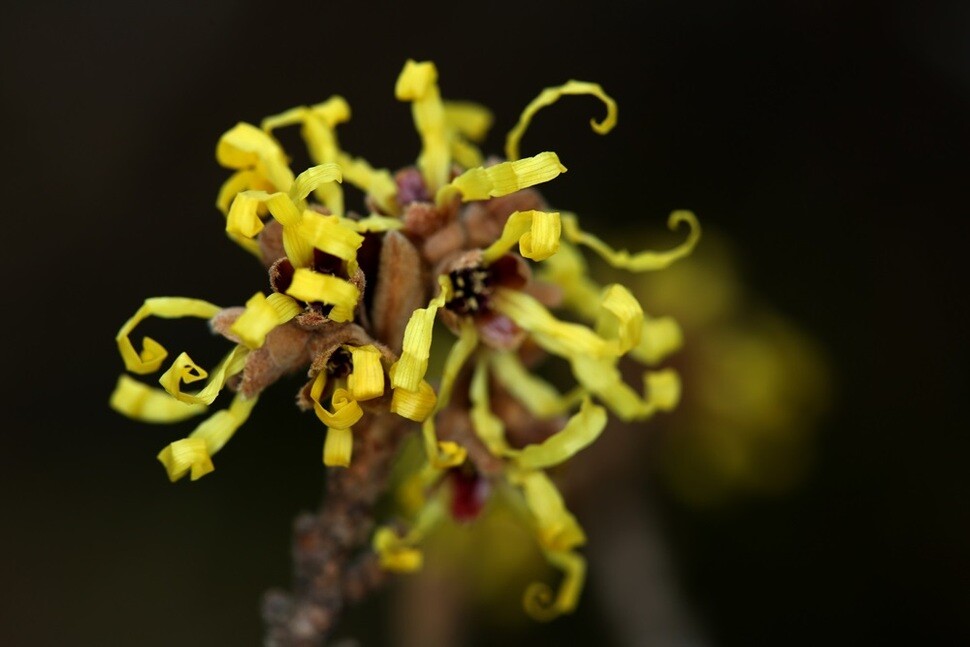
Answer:
M439 204L444 201L450 190L458 191L464 202L498 198L548 182L565 172L566 167L559 162L559 157L549 151L514 162L479 166L465 171L443 187L437 201Z

